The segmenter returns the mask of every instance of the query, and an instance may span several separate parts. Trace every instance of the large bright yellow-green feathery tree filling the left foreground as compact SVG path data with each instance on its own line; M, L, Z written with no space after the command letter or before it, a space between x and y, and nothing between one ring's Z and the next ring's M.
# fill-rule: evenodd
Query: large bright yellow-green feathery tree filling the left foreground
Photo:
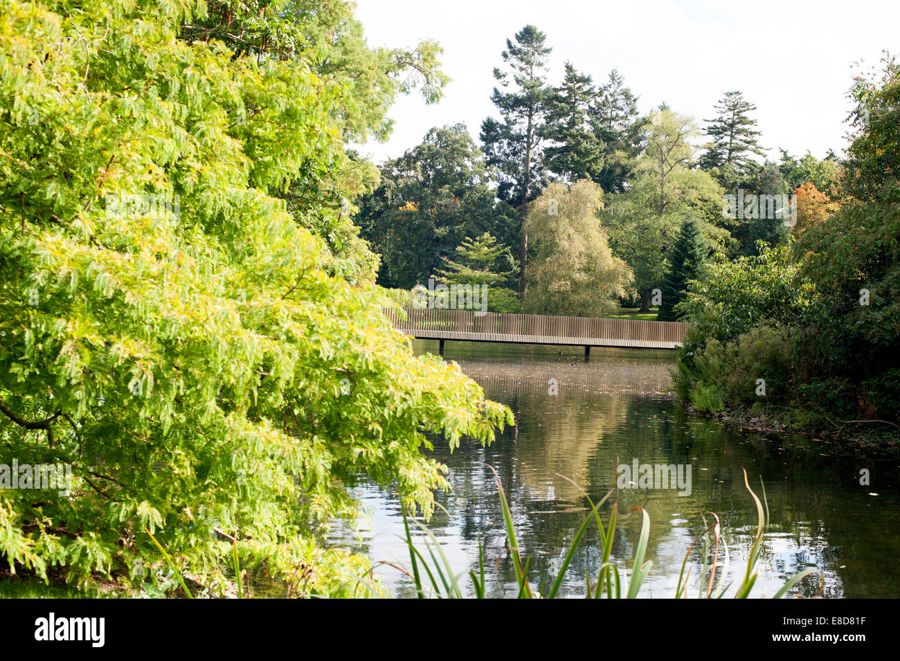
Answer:
M197 32L302 35L274 4L268 27L257 5L0 4L0 465L72 475L0 490L0 557L133 584L164 567L149 531L215 586L228 535L242 566L356 590L365 561L314 541L355 512L347 485L429 514L425 434L490 442L511 414L344 277L311 231L342 210L281 195L344 185L346 81L302 45Z

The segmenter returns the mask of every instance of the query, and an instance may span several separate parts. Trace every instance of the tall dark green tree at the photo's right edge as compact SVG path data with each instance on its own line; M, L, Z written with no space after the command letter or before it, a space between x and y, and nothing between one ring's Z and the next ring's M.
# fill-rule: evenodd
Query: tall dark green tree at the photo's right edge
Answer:
M807 228L800 246L822 307L818 332L802 338L813 373L846 393L843 413L900 416L900 64L886 55L874 76L859 76L854 135L842 163L842 209ZM818 184L816 184L816 188Z

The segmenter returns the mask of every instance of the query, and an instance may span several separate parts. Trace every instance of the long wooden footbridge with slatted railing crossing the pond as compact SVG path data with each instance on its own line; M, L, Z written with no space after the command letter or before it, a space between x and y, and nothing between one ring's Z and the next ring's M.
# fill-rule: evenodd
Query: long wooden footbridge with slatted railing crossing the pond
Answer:
M643 319L599 317L556 317L480 313L473 310L410 309L405 317L398 310L385 310L398 330L419 339L465 342L505 342L583 346L590 355L592 346L627 346L641 349L677 349L688 324Z

